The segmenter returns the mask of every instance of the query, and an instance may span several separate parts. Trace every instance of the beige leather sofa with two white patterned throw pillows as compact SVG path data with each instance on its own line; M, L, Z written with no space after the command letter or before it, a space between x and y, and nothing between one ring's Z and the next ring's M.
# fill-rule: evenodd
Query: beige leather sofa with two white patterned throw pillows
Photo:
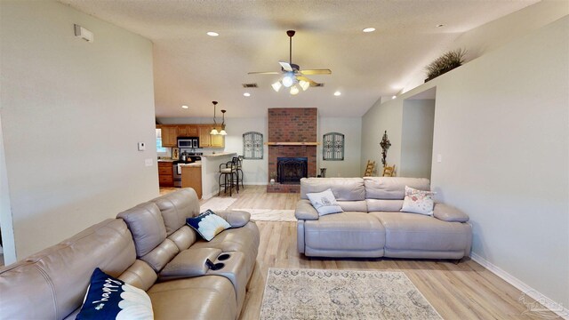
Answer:
M304 178L296 206L298 250L313 257L461 259L469 256L468 215L437 203L434 216L399 212L405 186L429 180L399 177ZM307 193L331 188L344 212L319 217Z

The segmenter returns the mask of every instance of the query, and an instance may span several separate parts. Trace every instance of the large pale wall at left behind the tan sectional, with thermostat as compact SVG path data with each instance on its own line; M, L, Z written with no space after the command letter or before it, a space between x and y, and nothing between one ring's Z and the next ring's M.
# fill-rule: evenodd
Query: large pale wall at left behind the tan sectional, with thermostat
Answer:
M158 195L152 44L54 1L0 5L0 111L22 259Z

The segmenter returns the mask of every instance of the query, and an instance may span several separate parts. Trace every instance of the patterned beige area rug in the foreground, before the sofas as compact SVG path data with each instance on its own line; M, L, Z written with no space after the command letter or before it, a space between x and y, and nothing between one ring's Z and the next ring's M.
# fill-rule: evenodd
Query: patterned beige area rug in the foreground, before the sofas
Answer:
M442 319L403 272L269 268L260 319Z

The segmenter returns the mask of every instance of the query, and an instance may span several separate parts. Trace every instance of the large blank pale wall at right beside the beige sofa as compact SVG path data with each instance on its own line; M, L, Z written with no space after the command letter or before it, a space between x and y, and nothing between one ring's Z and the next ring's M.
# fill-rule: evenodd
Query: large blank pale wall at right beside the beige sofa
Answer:
M431 188L469 214L477 260L565 308L568 33L565 16L397 99L437 86L433 157L441 154L442 162L433 161ZM390 108L370 110L363 132ZM365 141L363 153L379 141Z

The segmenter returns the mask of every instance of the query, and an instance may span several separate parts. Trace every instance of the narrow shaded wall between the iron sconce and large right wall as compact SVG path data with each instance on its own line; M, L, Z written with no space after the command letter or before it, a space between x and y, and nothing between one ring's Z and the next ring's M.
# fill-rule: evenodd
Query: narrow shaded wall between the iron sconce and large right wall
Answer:
M401 165L397 176L430 179L435 100L404 100Z

